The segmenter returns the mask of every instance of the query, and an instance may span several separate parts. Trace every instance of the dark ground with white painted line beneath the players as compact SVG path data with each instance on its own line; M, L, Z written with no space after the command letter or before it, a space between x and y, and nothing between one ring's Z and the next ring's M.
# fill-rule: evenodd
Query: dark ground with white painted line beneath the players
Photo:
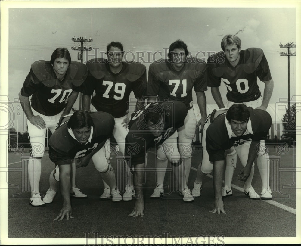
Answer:
M155 183L155 152L149 151L147 161L146 183L144 185L144 216L128 217L135 200L113 203L100 201L103 185L99 173L92 162L85 168L77 169L76 185L88 195L87 199L72 199L73 216L68 221L54 218L62 207L60 192L52 204L35 208L29 205L30 188L27 175L27 150L8 154L8 238L104 238L119 235L122 238L294 238L296 233L296 149L270 148L272 201L251 200L241 191L243 183L237 179L241 164L237 163L232 180L233 196L224 199L225 214L210 214L214 208L212 176L203 182L201 197L193 203L184 203L178 192L173 191L170 166L165 181L164 198L150 199ZM192 157L188 187L192 190L196 177L196 168L201 160L201 149L195 149ZM118 186L124 191L125 179L123 169L116 167L112 155L111 164L116 170ZM41 195L49 187L48 177L54 169L48 152L42 158L40 181ZM253 187L261 191L259 171L255 167ZM2 190L3 192L3 190ZM3 194L3 193L2 193ZM3 230L3 229L2 229ZM88 234L90 232L90 234ZM96 236L95 236L96 235ZM94 241L89 239L90 244ZM222 239L223 240L223 239ZM221 241L222 241L221 240ZM205 240L206 241L206 240ZM243 243L243 241L239 241ZM25 242L25 241L22 241ZM52 244L48 241L46 244ZM88 241L76 241L75 244ZM97 242L101 244L100 241ZM56 244L56 243L55 243Z

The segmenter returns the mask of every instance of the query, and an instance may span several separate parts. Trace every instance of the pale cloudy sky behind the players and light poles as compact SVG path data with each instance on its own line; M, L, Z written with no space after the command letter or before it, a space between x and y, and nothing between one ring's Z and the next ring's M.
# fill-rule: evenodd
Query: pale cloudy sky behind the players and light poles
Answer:
M5 61L8 63L8 69L5 70L8 91L2 90L2 101L8 96L10 102L20 105L17 102L18 93L30 65L37 60L49 61L55 48L68 48L72 60L78 61L78 51L71 50L71 46L79 44L71 40L74 36L93 38L93 42L87 45L95 50L84 52L84 63L94 58L93 54L100 57L107 43L120 41L125 51L133 52L128 53L126 58L137 61L137 52L140 52L140 56L144 54L143 61L140 61L148 69L154 59L166 57L166 50L176 39L183 40L192 55L198 54L198 58L206 61L209 53L221 50L220 42L224 35L235 33L242 40L242 49L256 47L264 51L275 83L270 102L275 104L287 100L287 57L280 56L278 52L287 51L279 47L280 43L296 42L295 8L275 8L272 4L265 8L237 8L246 5L231 4L225 5L226 8L216 5L194 8L143 8L143 5L139 8L111 8L117 7L118 2L91 7L88 4L81 5L85 8L73 8L79 6L76 4L62 5L63 8L55 8L61 7L58 4L35 5L35 8L33 5L25 5L27 8L19 4L12 5L5 17L8 27L5 35L8 37L8 61ZM295 95L294 56L290 57L290 81L291 95ZM258 83L263 93L264 83ZM220 90L225 102L225 86L222 85ZM206 92L206 98L208 104L214 103L210 89ZM78 101L75 107L78 108ZM14 108L11 125L20 131L26 130L23 111L20 111L20 107Z

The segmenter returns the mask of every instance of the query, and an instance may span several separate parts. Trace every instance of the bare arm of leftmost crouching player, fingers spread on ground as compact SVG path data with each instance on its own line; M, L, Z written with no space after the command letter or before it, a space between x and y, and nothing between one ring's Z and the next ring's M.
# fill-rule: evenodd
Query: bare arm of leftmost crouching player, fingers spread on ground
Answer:
M66 165L59 165L60 170L60 188L63 199L63 207L60 213L54 220L63 220L66 216L66 220L69 218L74 218L72 216L72 208L70 202L70 173L71 173L71 163Z

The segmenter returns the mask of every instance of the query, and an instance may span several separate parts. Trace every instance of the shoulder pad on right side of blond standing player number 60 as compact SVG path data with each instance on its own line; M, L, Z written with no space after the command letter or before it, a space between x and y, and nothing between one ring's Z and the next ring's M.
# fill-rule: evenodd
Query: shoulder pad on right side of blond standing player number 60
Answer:
M246 73L253 73L261 62L262 56L262 49L248 48L244 50L244 71Z

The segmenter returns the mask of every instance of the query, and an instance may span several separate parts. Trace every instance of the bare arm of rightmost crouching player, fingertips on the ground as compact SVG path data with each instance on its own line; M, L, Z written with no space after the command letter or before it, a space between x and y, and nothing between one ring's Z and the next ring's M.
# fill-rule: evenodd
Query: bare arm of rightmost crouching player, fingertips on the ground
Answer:
M214 161L213 162L213 186L215 195L215 208L210 211L210 213L220 214L225 213L225 205L222 200L222 179L223 179L223 167L224 161Z

